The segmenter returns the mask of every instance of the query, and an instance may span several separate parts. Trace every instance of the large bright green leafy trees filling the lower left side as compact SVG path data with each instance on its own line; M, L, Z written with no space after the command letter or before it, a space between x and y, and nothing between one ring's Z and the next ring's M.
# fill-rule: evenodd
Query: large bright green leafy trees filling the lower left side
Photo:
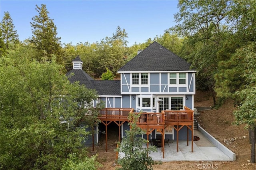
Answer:
M1 168L61 169L72 162L98 167L82 145L89 132L77 124L85 119L79 106L91 107L97 94L70 84L54 55L39 63L30 54L21 46L0 59Z

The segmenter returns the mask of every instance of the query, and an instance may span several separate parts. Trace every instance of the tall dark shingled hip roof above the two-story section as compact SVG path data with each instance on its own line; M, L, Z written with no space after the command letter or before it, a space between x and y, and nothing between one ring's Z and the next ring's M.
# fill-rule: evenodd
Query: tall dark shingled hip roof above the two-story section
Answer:
M141 51L119 71L188 71L190 64L157 42Z

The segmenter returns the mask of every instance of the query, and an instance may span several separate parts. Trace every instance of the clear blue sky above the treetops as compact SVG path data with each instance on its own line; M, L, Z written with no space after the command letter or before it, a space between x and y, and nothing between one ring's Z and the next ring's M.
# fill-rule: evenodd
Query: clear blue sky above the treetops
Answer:
M99 0L30 0L0 1L0 17L9 12L21 41L32 37L30 22L38 15L36 4L46 4L62 43L93 43L112 37L118 26L128 33L128 46L164 34L175 26L178 0L99 1Z

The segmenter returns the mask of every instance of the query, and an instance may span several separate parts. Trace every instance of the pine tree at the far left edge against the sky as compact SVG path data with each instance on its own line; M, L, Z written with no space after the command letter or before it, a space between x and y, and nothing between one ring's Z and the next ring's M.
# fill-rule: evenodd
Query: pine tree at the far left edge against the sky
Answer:
M9 12L4 12L4 17L0 24L1 28L1 53L5 53L8 49L14 48L18 43L17 30L14 30L15 26L12 23L12 18Z

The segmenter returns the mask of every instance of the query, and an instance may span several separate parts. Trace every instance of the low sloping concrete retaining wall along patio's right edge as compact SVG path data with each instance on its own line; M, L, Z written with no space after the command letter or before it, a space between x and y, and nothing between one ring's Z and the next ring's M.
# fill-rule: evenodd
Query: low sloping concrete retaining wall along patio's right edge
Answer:
M232 152L230 149L228 149L226 146L224 146L222 143L220 143L216 138L214 138L212 135L210 135L206 130L204 130L200 125L198 124L198 130L208 139L214 146L219 148L222 152L224 152L230 159L233 161L236 160L236 154Z

